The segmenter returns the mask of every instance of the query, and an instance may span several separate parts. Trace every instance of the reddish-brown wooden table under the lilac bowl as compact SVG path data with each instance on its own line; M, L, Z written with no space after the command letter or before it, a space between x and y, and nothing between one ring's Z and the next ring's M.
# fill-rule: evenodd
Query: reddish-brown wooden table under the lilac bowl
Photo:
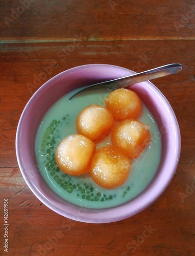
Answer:
M195 255L194 1L2 1L0 13L0 254ZM136 216L108 224L69 220L44 206L15 155L18 120L33 93L88 63L139 72L173 62L183 65L180 73L153 80L175 111L182 140L177 172L162 196Z

